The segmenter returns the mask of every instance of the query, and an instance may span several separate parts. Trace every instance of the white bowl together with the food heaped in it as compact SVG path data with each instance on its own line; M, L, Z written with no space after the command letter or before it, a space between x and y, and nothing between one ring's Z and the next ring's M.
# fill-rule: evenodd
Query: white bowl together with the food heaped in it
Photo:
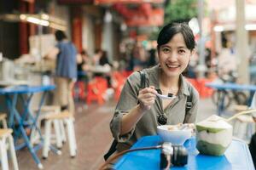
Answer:
M164 142L183 145L191 137L193 129L192 124L161 125L157 127L157 133Z

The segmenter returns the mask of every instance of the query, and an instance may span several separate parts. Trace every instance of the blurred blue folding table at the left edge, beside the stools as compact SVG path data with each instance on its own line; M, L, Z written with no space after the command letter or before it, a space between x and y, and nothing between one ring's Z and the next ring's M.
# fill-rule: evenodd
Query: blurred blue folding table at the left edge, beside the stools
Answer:
M45 94L49 90L55 89L54 85L47 86L15 86L9 88L0 88L0 95L4 95L6 99L6 104L9 110L9 127L14 129L14 138L15 138L15 149L20 150L23 147L27 147L34 161L36 161L38 167L43 167L38 156L36 155L36 150L38 147L32 147L29 137L26 134L26 128L36 128L40 133L39 128L36 126L36 122L38 120L38 116L41 111L41 106L44 104ZM43 93L39 105L38 112L35 115L32 115L31 111L29 111L30 103L33 94L35 93ZM23 111L19 112L16 109L17 99L21 98ZM23 144L16 144L17 139L21 137L24 139ZM43 139L41 138L41 142Z

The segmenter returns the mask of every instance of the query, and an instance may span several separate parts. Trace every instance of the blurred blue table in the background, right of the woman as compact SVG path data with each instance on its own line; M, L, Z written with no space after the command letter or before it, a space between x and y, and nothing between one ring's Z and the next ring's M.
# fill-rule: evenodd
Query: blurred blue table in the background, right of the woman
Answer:
M218 91L227 91L227 90L236 90L236 91L249 91L250 99L248 99L248 103L253 98L253 93L256 92L256 86L254 85L246 85L246 84L236 84L236 83L214 83L209 82L206 83L206 86L209 88L215 88ZM225 93L223 93L225 94ZM218 109L218 115L220 115L224 111L224 95L221 95L221 102L218 102L217 109Z

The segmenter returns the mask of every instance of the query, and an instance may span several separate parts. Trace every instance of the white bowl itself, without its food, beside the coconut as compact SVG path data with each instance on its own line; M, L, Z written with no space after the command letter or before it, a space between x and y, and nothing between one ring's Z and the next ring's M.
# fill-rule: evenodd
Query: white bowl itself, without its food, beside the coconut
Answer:
M171 142L173 145L183 145L191 138L191 129L169 130L172 125L161 125L157 127L157 133L164 142Z

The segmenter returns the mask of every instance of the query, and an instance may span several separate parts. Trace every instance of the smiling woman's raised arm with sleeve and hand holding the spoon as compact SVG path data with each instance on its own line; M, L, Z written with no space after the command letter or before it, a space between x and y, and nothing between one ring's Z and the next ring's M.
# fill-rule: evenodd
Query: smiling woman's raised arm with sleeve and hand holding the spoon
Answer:
M140 82L140 73L132 73L127 78L119 96L118 104L110 122L113 138L119 142L125 142L131 138L137 122L147 109L150 109L150 105L154 103L156 91L153 87L140 89Z

